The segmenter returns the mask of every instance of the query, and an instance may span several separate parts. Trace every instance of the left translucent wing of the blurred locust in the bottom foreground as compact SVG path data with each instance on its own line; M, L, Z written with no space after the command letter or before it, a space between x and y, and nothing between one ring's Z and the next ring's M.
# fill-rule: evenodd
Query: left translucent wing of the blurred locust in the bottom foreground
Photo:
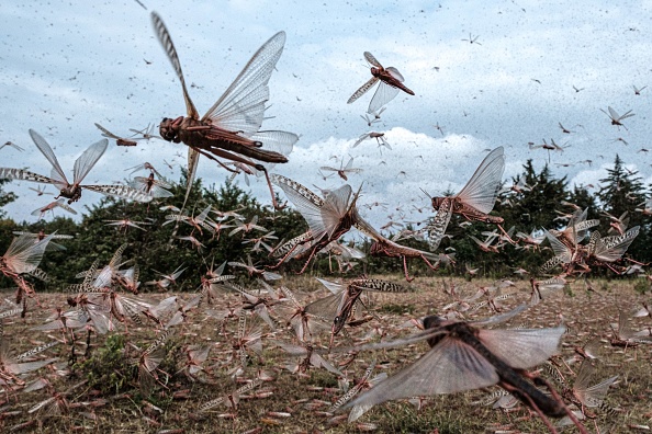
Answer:
M472 346L445 336L416 363L379 382L346 408L415 396L452 393L498 382L494 366Z

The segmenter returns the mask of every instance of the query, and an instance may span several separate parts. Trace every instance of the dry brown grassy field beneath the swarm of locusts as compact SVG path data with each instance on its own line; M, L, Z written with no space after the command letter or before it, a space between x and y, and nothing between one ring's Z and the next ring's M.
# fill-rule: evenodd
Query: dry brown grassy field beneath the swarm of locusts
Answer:
M375 276L382 278L383 276ZM394 279L396 283L400 281ZM441 278L420 278L411 284L414 293L381 294L367 300L370 311L378 318L357 327L347 326L335 340L335 346L349 346L359 342L386 341L398 335L414 333L407 327L411 319L440 311L451 299L445 294L443 285L453 281ZM529 299L528 281L516 281L509 288L515 296L505 307L516 306ZM312 300L326 295L321 285L308 277L294 277L285 282L301 300ZM404 282L402 284L405 284ZM460 292L474 292L491 282L456 279ZM527 328L554 327L563 319L569 332L562 339L561 357L569 359L575 346L583 345L589 336L600 338L600 363L592 376L592 385L618 375L610 387L605 402L615 409L611 413L602 409L591 409L595 419L585 421L589 432L647 432L652 425L652 364L650 345L639 347L617 347L609 343L614 332L610 324L618 321L619 311L632 312L640 308L649 296L633 290L633 281L593 282L596 292L587 292L583 282L577 281L561 292L544 298L537 306L516 317L502 328L525 326ZM254 284L251 287L257 287ZM11 298L9 294L5 295ZM171 294L144 294L138 296L153 304ZM179 298L189 300L192 295L180 294ZM41 308L31 306L26 318L4 319L4 344L12 354L27 351L35 345L53 339L61 343L47 350L47 357L57 356L54 365L26 375L27 385L41 378L47 385L36 391L5 391L0 407L0 423L3 432L71 432L72 430L102 433L149 433L149 432L404 432L404 433L516 433L546 432L546 426L536 414L520 403L507 411L494 410L491 406L472 404L482 400L487 391L437 396L423 400L387 402L376 406L358 421L347 423L347 412L327 413L328 408L344 395L344 382L325 369L311 367L306 373L291 373L288 364L299 362L289 356L276 342L296 343L294 331L285 327L278 307L272 308L272 318L279 324L272 332L263 326L260 355L249 353L248 366L244 372L234 373L238 359L233 357L234 334L238 320L217 317L221 311L241 306L241 296L222 294L211 305L205 300L186 312L184 321L176 327L176 332L166 343L166 356L159 365L158 380L146 388L138 387L137 369L128 362L126 353L146 347L155 339L153 323L143 326L127 323L128 331L117 324L119 331L105 335L91 334L91 346L86 345L86 331L77 332L75 364L70 365L71 347L63 342L64 334L58 330L50 332L32 331L43 324L52 308L64 307L66 295L40 294ZM276 313L276 315L274 315ZM367 312L361 312L367 316ZM485 307L468 318L484 318L492 312ZM380 320L380 321L379 321ZM652 326L650 318L634 318L631 327L636 331ZM50 338L48 338L48 335ZM322 334L322 343L327 345L329 332ZM133 345L132 345L133 344ZM187 375L188 345L201 344L211 347L207 359L201 364L192 378ZM126 349L126 350L124 350ZM350 362L350 354L325 356L333 365L340 366L349 381L363 376L370 363L375 359L374 375L386 372L389 375L405 366L427 351L425 343L411 344L397 350L360 352ZM125 352L126 351L126 352ZM557 357L555 357L557 358ZM344 363L350 362L344 366ZM570 368L577 370L578 364ZM573 374L560 364L560 372L572 384ZM167 374L164 374L167 373ZM546 374L542 374L546 376ZM243 393L237 411L226 406L216 406L205 412L199 409L205 402L233 392L243 381L256 377L262 384ZM87 380L86 382L82 382ZM69 390L74 385L77 388ZM352 387L353 382L350 382ZM492 389L493 391L494 389ZM495 388L495 390L498 390ZM560 390L561 391L561 390ZM29 412L37 403L50 399L52 406L44 404L37 411ZM65 402L65 403L64 403ZM60 403L56 406L56 403ZM555 421L553 421L554 423ZM638 427L636 427L638 426ZM611 431L608 431L608 430ZM574 427L566 431L576 431Z

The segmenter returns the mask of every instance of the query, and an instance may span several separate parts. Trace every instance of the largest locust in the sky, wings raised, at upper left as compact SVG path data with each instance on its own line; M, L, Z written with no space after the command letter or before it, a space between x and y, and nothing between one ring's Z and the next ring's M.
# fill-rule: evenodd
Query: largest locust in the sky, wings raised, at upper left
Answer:
M250 159L268 163L288 162L286 155L299 140L299 136L292 133L259 132L269 99L268 82L283 52L285 33L277 33L256 52L235 81L200 119L188 94L181 62L170 34L160 16L154 12L151 22L156 36L181 82L186 100L188 116L173 119L166 117L159 126L160 136L165 140L183 142L189 147L186 201L192 187L200 155L216 161L225 169L227 168L217 158L248 164L263 172L269 184L265 165ZM269 190L277 207L271 184Z

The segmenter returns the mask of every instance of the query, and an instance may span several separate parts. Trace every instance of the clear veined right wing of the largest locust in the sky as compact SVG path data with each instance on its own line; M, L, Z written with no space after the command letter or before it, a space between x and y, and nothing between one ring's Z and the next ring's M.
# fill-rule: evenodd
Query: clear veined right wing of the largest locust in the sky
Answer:
M285 32L269 38L202 121L211 119L220 128L238 132L245 137L258 133L265 119L265 103L269 100L268 82L284 45Z

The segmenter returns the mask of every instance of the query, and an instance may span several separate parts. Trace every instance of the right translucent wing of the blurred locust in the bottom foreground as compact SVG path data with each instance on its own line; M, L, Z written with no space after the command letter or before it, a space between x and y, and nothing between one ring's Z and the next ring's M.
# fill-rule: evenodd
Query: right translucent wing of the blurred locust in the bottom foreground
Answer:
M482 329L477 338L507 365L529 369L557 353L565 331L563 326L553 329Z

